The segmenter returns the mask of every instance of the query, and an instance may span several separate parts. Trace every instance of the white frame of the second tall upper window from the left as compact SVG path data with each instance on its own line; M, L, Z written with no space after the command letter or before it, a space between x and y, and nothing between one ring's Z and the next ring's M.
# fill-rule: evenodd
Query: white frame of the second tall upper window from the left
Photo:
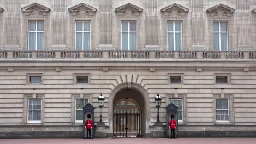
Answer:
M82 22L82 31L77 31L77 22ZM85 22L90 23L90 31L84 31L84 23ZM76 44L76 40L77 40L76 33L77 32L82 33L82 50L80 50L80 51L84 51L84 45L83 45L84 44L84 33L89 33L90 34L89 50L91 50L91 21L75 21L75 50L77 50L77 48L76 48L76 46L77 46L77 44ZM86 50L86 51L89 51L89 50Z

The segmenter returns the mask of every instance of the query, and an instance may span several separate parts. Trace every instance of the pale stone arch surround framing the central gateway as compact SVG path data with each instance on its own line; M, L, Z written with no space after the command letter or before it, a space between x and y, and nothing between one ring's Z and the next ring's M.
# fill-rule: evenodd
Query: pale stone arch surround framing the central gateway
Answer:
M129 89L129 90L128 90ZM133 91L139 94L140 99L143 99L143 102L134 101L137 107L141 109L141 135L143 137L148 137L149 135L149 122L150 122L150 99L147 91L141 86L136 83L122 83L114 88L114 90L110 93L109 96L109 108L108 108L108 115L109 115L109 133L113 135L113 113L114 113L114 102L115 97L118 93L122 91ZM122 99L119 99L119 101ZM143 103L143 104L142 104Z

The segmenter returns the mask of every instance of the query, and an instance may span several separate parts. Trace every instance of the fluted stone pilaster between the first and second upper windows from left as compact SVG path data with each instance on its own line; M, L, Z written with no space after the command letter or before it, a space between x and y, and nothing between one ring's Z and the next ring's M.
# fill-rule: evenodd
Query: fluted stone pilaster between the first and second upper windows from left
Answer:
M53 1L53 50L66 50L66 0Z

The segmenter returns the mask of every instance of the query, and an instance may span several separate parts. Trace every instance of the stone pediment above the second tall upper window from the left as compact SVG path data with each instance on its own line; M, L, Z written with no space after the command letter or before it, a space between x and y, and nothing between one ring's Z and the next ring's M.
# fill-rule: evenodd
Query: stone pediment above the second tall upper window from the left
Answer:
M79 14L85 14L87 13L89 16L93 16L94 13L96 13L97 8L93 8L90 5L86 5L85 3L80 3L78 5L75 5L71 8L69 8L69 12L72 13L72 16L76 16L77 13Z

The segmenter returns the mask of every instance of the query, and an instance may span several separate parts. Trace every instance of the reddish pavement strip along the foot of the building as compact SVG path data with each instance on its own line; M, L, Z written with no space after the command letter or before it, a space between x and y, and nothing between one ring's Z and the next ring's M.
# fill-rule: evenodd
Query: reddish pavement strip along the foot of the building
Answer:
M256 138L0 139L0 144L256 144Z

